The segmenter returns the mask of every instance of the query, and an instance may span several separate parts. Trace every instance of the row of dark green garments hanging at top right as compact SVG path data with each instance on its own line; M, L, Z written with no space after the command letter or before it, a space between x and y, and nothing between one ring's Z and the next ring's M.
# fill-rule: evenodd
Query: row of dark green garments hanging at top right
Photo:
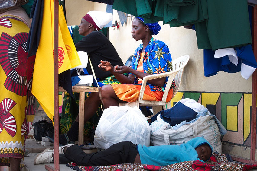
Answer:
M113 9L163 21L170 27L195 24L198 49L221 49L252 43L247 1L114 0Z

